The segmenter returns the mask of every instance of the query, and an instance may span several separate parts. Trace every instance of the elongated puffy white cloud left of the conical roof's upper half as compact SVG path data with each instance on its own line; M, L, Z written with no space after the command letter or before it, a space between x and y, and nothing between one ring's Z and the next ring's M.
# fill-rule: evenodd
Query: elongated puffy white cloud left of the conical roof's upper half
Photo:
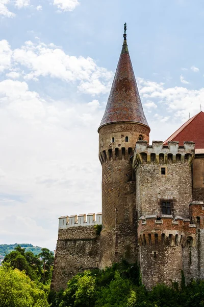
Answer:
M50 76L67 82L79 82L78 89L91 95L110 91L113 73L98 67L90 57L69 56L63 50L43 42L26 41L25 45L13 51L14 62L27 68L27 80L39 76Z

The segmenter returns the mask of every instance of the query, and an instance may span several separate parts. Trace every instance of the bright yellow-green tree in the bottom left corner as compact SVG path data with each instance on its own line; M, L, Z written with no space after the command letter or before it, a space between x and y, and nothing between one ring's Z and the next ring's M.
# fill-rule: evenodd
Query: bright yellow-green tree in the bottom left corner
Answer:
M45 292L18 269L0 268L0 307L48 307Z

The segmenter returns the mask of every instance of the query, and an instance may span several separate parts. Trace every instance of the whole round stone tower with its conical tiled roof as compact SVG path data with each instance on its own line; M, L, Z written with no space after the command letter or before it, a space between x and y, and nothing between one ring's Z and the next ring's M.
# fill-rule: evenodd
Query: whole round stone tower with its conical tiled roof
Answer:
M125 29L126 32L126 29ZM104 117L98 128L102 165L103 230L99 267L137 258L135 179L132 156L137 140L149 141L126 34Z

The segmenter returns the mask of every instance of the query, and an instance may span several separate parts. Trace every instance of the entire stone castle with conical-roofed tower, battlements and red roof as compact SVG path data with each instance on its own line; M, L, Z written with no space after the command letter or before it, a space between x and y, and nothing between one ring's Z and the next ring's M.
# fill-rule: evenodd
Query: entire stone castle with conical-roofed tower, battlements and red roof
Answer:
M148 289L181 282L182 271L187 282L204 278L204 113L165 142L149 145L126 33L123 38L98 128L102 215L59 218L52 280L57 291L78 272L122 259L138 261Z

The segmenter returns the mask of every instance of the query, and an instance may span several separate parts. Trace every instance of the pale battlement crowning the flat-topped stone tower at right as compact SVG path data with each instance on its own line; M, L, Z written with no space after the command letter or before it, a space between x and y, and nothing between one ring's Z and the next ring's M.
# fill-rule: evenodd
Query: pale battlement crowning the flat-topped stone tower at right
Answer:
M146 141L136 143L133 167L136 169L140 163L191 163L195 156L195 143L184 142L184 146L179 146L179 142L168 142L168 146L163 141L152 141L152 145L147 145Z

